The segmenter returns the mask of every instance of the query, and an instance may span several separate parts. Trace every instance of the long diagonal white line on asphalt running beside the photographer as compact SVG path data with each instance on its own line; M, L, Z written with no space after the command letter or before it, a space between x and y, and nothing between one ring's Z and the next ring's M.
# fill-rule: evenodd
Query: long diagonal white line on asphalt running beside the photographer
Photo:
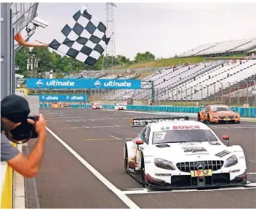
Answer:
M63 146L68 149L69 152L71 152L71 154L73 156L75 156L77 158L77 160L79 160L93 175L95 175L97 177L97 179L99 179L103 184L105 184L106 187L108 187L108 189L111 189L111 191L116 194L117 197L119 197L119 199L121 201L124 202L124 204L126 204L129 208L139 208L139 206L137 206L135 204L135 202L132 202L131 199L129 199L129 197L127 197L126 194L124 194L124 192L121 192L120 189L117 189L110 181L108 181L108 179L105 179L105 177L103 175L101 175L95 168L92 167L92 165L90 165L89 163L87 163L86 160L84 160L84 158L82 158L79 154L77 154L71 147L68 146L68 144L66 144L65 142L63 142L62 139L60 139L59 136L57 136L52 130L50 130L47 127L47 131L49 131L50 134L52 134L52 136L55 137L55 139L57 139L57 141L60 142L60 144L63 144Z

